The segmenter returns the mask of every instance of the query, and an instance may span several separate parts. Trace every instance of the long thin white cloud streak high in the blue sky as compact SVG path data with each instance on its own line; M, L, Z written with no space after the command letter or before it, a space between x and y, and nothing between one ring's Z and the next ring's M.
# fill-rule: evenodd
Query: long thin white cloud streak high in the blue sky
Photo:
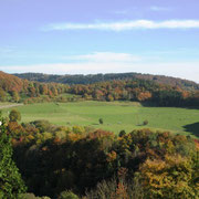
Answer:
M55 23L43 28L43 31L64 30L108 30L126 31L136 29L199 29L199 20L168 20L168 21L121 21L121 22L96 22L96 23Z

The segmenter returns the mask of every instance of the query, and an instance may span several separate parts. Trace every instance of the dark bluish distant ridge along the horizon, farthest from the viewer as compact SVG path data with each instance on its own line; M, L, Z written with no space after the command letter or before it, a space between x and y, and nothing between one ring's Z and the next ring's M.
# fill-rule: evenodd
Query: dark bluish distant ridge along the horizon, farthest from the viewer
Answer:
M108 74L88 74L88 75L52 75L43 73L17 73L13 74L20 78L38 82L55 82L63 84L93 84L96 82L113 81L113 80L150 80L159 84L167 84L171 86L179 86L184 90L199 90L199 84L192 81L176 78L164 75L151 75L142 73L108 73Z

